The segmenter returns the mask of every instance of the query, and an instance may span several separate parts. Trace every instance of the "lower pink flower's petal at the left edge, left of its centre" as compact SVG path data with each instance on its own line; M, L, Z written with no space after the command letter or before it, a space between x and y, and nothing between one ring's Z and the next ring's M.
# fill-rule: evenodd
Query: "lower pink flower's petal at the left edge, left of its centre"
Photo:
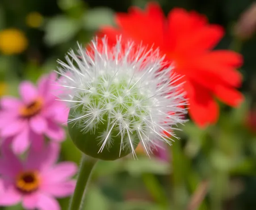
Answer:
M21 194L12 185L4 186L3 181L0 190L0 206L13 206L21 201Z

